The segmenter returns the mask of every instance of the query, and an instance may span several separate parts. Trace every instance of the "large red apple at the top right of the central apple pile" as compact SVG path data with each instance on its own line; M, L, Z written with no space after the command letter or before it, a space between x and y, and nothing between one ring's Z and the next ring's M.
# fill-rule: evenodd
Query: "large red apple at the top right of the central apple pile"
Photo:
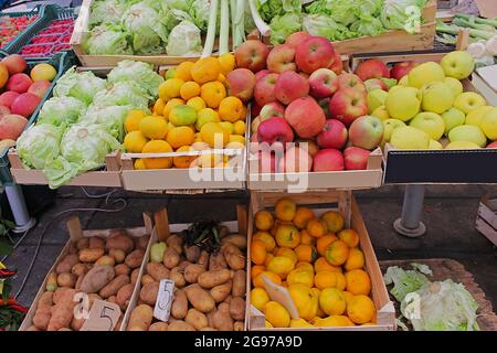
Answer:
M334 57L335 49L324 36L309 36L298 44L295 52L298 68L309 75L318 68L329 67Z

